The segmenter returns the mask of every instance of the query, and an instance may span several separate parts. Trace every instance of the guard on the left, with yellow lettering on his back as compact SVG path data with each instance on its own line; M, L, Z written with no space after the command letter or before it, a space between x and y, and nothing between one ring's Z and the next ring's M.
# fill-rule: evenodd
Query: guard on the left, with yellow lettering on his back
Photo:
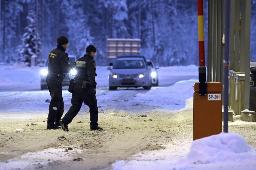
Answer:
M70 73L75 67L75 63L68 64L68 54L65 53L69 40L65 36L57 39L57 48L51 50L48 59L48 74L46 84L51 95L49 114L47 118L47 129L60 129L59 120L64 112L64 102L62 98L62 80L64 73Z

